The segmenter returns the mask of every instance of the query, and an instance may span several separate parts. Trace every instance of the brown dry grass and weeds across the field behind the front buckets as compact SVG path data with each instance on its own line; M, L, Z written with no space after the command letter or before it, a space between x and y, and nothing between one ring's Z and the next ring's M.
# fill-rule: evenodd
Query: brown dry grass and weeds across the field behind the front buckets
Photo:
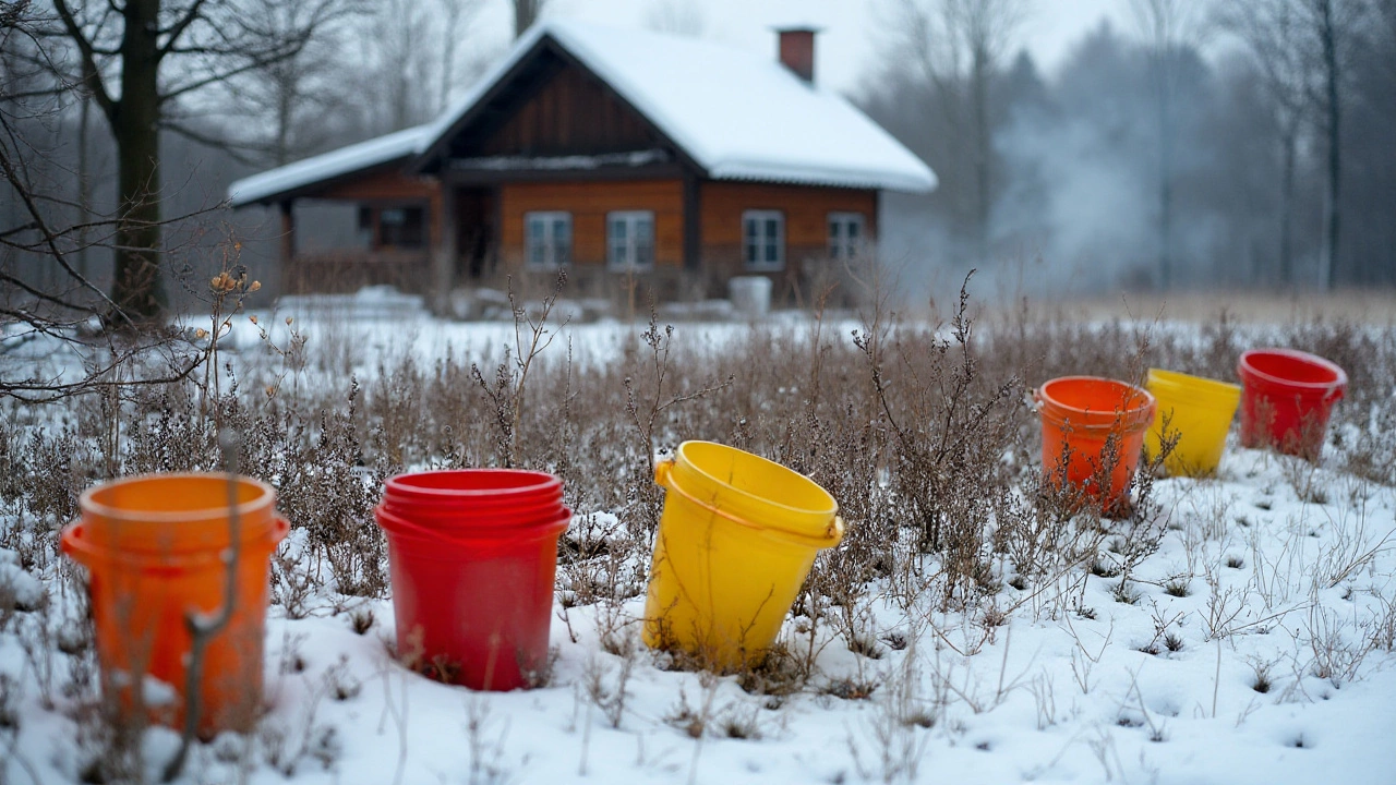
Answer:
M815 562L790 638L740 679L750 691L773 696L766 700L810 686L831 634L868 661L884 647L907 645L906 631L868 623L878 582L903 608L963 612L974 629L966 633L967 652L991 641L1025 603L1055 617L1093 615L1074 603L1074 589L1061 592L1085 585L1087 573L1117 581L1121 602L1138 602L1132 571L1167 524L1150 501L1153 474L1141 474L1135 504L1117 518L1053 492L1040 476L1039 420L1027 392L1055 376L1141 381L1148 367L1161 366L1231 379L1242 346L1314 351L1351 377L1329 434L1336 468L1396 483L1390 328L1347 321L1259 327L1215 317L1195 330L1163 330L1027 307L976 318L963 295L952 311L928 321L903 321L875 299L860 316L852 341L814 316L793 327L754 325L720 353L684 344L652 317L614 360L582 366L561 344L546 356L536 352L546 337L521 313L522 349L493 362L406 356L360 381L317 370L304 358L289 362L282 348L261 366L244 359L236 373L225 365L198 383L94 394L63 412L11 402L0 416L0 500L17 525L0 529L0 548L20 553L27 570L56 568L57 531L75 514L82 489L121 474L216 468L218 427L230 427L240 436L239 465L278 487L281 511L304 532L300 550L278 557L274 568L275 602L296 616L320 591L387 594L385 546L371 510L392 474L504 465L554 472L578 514L558 549L560 601L564 609L597 609L600 640L618 661L593 663L586 697L618 726L638 645L635 620L623 606L644 592L663 501L653 457L685 439L732 444L810 475L839 500L847 522L845 543ZM313 356L314 345L300 342L293 352ZM1122 543L1118 552L1111 542ZM1251 563L1254 556L1230 556L1227 567ZM73 570L64 574L78 580ZM1168 594L1199 591L1189 577L1171 581ZM1044 599L1048 589L1057 599ZM1209 631L1217 637L1231 629L1234 609L1224 595L1213 599ZM371 615L352 603L345 613L356 631L373 627ZM13 616L4 623L17 623ZM1374 636L1381 643L1369 647L1390 648L1392 616L1385 637ZM75 620L46 626L66 622ZM1332 620L1311 619L1315 672L1343 676L1356 668L1342 656L1346 637L1351 631ZM1167 620L1149 644L1181 647ZM89 661L89 650L88 640L52 656ZM1262 676L1258 669L1256 690ZM1087 690L1086 661L1079 679ZM73 683L75 694L92 694L91 679ZM899 728L923 698L906 694L900 682L879 693L872 676L821 689L884 700L888 719L878 739L899 750L879 765L914 774L919 751ZM1044 684L1034 693L1047 708L1050 693ZM3 705L0 696L0 714ZM674 722L695 735L754 736L758 729L738 714L723 719L712 705L684 704ZM1051 715L1041 721L1050 724Z

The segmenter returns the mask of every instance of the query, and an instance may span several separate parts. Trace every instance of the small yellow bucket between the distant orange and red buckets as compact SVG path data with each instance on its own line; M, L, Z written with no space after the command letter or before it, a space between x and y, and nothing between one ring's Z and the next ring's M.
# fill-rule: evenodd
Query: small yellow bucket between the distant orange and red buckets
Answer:
M1149 392L1159 401L1153 426L1145 437L1149 455L1159 454L1163 420L1178 434L1178 444L1163 461L1170 475L1206 476L1217 471L1226 433L1241 401L1241 387L1171 370L1149 369Z

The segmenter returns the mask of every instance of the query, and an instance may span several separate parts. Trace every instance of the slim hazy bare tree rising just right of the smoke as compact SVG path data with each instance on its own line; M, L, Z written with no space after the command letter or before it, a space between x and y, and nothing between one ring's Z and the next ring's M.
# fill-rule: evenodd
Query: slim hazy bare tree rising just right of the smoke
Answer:
M1173 145L1175 101L1184 47L1201 35L1201 6L1194 0L1131 0L1149 52L1159 130L1159 288L1173 286Z

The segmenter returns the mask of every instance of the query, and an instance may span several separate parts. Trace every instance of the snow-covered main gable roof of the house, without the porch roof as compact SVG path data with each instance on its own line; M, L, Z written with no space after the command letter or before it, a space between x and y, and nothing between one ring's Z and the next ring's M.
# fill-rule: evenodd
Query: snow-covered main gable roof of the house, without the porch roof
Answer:
M924 193L935 173L842 96L776 61L718 43L567 20L536 25L454 109L420 152L443 142L542 36L591 68L715 179Z

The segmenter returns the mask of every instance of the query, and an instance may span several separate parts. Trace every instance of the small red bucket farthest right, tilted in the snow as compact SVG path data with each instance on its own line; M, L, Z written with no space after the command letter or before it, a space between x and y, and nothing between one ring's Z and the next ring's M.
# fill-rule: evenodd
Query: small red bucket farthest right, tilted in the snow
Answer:
M1328 418L1347 391L1337 365L1294 349L1251 349L1235 366L1241 379L1241 444L1318 458Z

